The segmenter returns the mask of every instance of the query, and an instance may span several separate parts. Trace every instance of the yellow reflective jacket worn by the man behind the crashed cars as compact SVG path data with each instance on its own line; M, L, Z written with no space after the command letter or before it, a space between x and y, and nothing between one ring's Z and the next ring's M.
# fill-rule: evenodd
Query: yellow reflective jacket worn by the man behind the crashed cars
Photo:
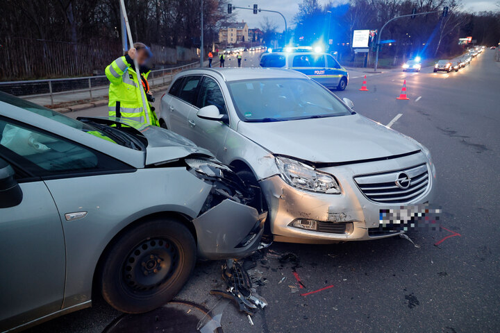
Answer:
M140 89L142 82L138 80L137 73L132 64L129 64L126 58L120 57L111 62L106 67L106 76L110 80L109 87L109 116L118 118L127 118L140 123L147 124L146 115L142 105L142 96ZM142 74L147 80L149 71ZM149 112L149 125L160 126L156 114L151 110L151 105L147 101L147 112Z

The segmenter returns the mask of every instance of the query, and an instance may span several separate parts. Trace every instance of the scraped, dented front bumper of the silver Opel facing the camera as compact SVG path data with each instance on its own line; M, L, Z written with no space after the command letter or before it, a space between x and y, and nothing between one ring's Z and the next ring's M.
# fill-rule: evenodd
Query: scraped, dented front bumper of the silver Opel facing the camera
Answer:
M418 155L422 155L419 153ZM398 159L399 160L399 159ZM422 164L422 158L404 157L403 161L392 160L351 164L343 167L322 169L333 174L342 187L342 194L319 194L302 191L288 185L280 176L260 181L263 194L269 205L269 223L275 241L306 244L328 244L338 241L360 241L391 237L401 232L379 232L381 210L400 208L401 205L374 203L358 189L353 177L367 173L403 169ZM363 165L365 164L365 165ZM391 167L391 165L393 167ZM427 164L428 165L428 164ZM435 170L430 169L426 191L405 205L432 203L435 185ZM317 221L318 229L309 231L290 225L296 219Z

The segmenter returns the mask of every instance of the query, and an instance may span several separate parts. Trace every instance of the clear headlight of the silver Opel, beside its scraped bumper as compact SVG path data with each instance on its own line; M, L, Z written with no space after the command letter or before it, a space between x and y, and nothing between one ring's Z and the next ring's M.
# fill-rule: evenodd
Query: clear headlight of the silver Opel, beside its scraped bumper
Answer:
M308 164L288 157L276 156L276 165L281 178L293 187L327 194L340 193L338 182L333 176L317 171Z

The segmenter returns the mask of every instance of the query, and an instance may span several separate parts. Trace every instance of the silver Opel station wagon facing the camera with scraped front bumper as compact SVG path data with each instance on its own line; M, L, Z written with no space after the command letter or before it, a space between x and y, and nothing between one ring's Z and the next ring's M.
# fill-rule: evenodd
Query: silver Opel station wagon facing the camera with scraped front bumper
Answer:
M160 123L260 187L275 241L390 237L386 209L432 202L429 151L288 69L192 69L175 76ZM405 207L406 209L406 207ZM390 227L390 225L389 225Z

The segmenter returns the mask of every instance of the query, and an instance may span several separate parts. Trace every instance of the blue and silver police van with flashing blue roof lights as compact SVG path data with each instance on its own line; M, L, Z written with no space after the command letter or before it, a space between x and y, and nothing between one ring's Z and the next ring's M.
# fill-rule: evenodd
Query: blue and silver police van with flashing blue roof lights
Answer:
M306 74L328 89L344 90L349 83L349 73L328 53L312 49L285 48L285 51L268 50L260 57L260 67L288 68Z

